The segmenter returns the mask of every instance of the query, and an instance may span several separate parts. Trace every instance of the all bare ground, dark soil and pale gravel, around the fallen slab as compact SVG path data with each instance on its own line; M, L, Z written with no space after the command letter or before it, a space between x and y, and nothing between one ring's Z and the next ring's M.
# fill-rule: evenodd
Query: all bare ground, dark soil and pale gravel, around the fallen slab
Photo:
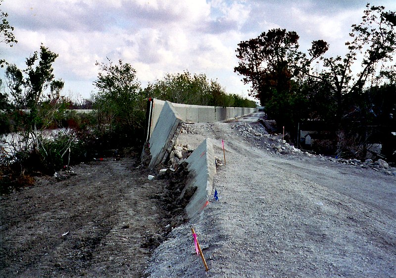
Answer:
M214 181L220 200L173 230L168 181L149 182L133 156L1 196L0 277L394 277L396 177L281 155L245 125L254 118L242 120L180 135L193 148L210 138L220 160L224 139L227 164Z

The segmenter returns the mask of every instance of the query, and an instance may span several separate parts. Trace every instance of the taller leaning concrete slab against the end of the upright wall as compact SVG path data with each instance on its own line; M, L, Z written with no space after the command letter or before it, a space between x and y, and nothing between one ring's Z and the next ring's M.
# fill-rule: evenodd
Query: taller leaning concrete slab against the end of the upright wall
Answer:
M148 167L150 169L161 162L166 149L172 143L175 132L182 124L183 120L173 109L172 103L165 101L149 140L151 160Z

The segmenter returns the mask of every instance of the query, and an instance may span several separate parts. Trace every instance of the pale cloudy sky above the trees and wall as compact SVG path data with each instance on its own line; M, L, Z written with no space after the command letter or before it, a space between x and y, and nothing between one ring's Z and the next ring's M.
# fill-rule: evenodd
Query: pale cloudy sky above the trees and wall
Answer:
M233 70L238 43L285 28L300 36L301 50L322 39L330 44L328 55L343 54L350 25L360 22L367 1L4 0L0 8L8 12L18 44L0 44L0 56L25 68L25 58L44 44L59 54L55 77L73 98L95 93L95 62L106 57L132 64L143 87L188 70L247 96L249 87ZM370 3L396 10L395 0Z

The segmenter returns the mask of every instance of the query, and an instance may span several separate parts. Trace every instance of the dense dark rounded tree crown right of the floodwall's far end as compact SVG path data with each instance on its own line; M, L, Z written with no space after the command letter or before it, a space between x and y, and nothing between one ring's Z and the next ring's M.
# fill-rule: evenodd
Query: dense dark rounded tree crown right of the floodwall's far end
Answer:
M298 50L298 35L286 29L272 29L257 38L243 41L236 50L239 65L235 72L252 86L251 95L265 105L277 93L289 92L292 81L300 81L310 63L328 49L322 40L312 42L309 57Z

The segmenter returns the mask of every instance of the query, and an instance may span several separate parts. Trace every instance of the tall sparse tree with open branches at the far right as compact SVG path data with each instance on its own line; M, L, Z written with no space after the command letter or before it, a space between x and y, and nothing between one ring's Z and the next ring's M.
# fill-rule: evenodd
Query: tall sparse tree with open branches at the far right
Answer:
M352 25L345 57L323 58L323 72L311 75L313 80L330 88L339 124L350 112L349 94L363 93L363 88L380 85L395 76L394 67L386 67L386 63L393 61L396 50L396 14L384 9L367 4L361 23ZM358 59L360 70L354 74L352 66Z

